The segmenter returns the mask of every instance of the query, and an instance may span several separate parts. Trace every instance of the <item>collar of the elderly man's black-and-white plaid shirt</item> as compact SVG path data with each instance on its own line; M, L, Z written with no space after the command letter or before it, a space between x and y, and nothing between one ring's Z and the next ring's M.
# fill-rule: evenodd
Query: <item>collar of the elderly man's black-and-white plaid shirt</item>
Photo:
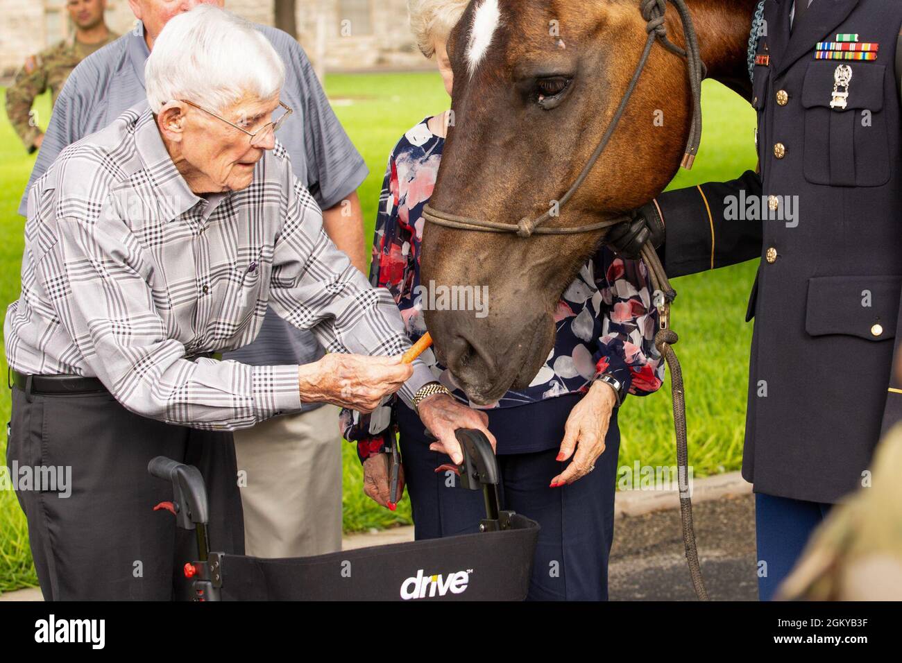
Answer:
M151 180L156 198L154 202L166 221L179 218L181 214L204 200L189 188L188 182L172 162L150 106L144 106L135 123L134 146L143 161L144 171ZM209 203L213 203L215 207L223 197L211 197ZM207 207L212 208L210 205Z

